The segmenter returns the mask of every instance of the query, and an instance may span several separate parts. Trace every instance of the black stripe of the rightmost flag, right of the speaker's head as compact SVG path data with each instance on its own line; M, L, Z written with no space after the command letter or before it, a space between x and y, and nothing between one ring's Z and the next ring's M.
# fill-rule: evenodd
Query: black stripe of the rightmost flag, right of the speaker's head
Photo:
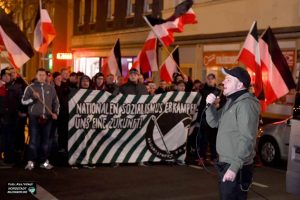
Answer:
M268 45L269 54L272 58L273 64L279 71L287 88L288 89L296 88L296 84L294 82L292 73L289 69L288 63L280 50L280 47L272 32L272 29L269 27L261 38Z

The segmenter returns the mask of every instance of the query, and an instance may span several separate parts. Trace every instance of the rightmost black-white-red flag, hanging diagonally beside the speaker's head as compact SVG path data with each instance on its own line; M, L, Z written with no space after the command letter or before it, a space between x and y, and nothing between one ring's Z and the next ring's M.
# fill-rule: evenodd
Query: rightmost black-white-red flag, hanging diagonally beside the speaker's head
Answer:
M268 105L296 88L296 84L270 27L259 38L259 46Z

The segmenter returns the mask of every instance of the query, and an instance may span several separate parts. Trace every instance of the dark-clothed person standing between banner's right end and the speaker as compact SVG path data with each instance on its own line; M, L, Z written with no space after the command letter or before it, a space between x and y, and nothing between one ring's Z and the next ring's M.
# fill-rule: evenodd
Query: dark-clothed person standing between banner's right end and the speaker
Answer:
M204 87L201 91L202 98L200 105L198 107L198 121L200 121L201 115L206 107L206 97L214 92L217 88L216 84L216 76L214 74L208 74L206 76L206 83L204 84ZM198 161L199 165L202 165L203 163L206 164L213 164L215 160L217 159L217 152L216 152L216 137L217 137L217 128L211 128L205 119L205 113L202 115L200 128L198 130L198 136L197 136L197 146L198 146L198 152L200 155L200 159ZM211 153L210 160L207 159L207 150L208 145Z

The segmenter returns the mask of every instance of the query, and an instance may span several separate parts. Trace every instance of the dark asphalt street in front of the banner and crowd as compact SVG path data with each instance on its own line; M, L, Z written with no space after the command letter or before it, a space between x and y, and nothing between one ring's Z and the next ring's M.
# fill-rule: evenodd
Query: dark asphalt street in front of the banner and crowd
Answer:
M95 169L56 167L53 170L23 168L0 169L0 200L193 200L218 199L214 167L209 172L189 166L109 166ZM249 199L296 200L285 191L285 170L267 167L255 169ZM6 194L7 183L33 181L37 194Z

